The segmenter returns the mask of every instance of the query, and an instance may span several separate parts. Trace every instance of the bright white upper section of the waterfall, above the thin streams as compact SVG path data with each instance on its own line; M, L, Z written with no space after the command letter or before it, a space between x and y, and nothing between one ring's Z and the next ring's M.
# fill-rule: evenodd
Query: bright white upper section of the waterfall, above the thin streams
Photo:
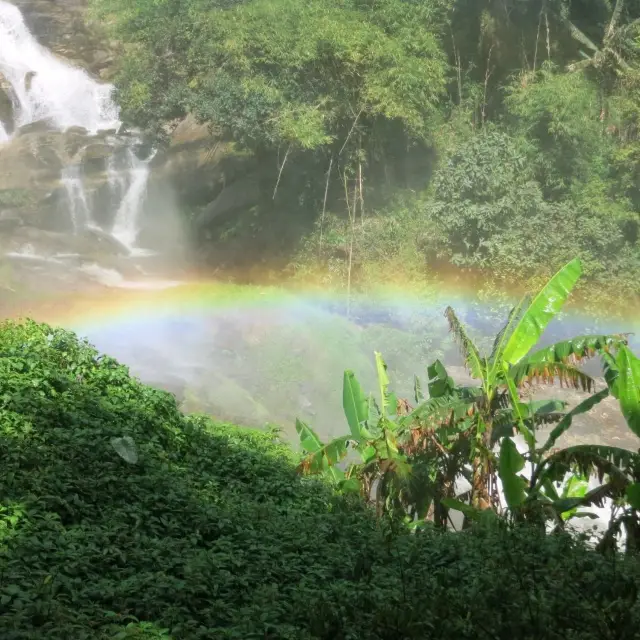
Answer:
M15 126L46 120L59 130L84 127L95 133L119 126L113 87L62 62L40 45L20 10L0 0L0 73L13 88ZM9 136L2 128L2 137Z

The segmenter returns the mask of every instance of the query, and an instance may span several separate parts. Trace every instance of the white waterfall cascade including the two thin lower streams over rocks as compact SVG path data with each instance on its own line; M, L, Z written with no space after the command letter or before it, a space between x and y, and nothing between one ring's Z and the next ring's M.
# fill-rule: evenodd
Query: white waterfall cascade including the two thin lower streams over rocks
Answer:
M0 145L11 142L13 132L20 127L37 122L60 132L80 127L87 132L87 145L99 132L120 126L113 86L99 83L83 69L55 57L31 34L20 10L5 0L0 0L0 92L13 107L12 122L0 121ZM140 160L132 149L137 143L135 139L119 140L116 146L128 145L125 153L116 157L114 148L104 167L112 211L110 221L102 226L132 253L138 250L136 241L153 157ZM77 163L65 166L60 183L74 232L99 226L83 167Z

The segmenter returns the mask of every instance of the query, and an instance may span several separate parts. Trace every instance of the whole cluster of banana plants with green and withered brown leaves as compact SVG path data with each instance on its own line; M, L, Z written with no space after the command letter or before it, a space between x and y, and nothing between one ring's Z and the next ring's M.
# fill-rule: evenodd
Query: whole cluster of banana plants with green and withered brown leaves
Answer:
M546 530L563 529L578 509L609 498L615 505L601 549L615 549L621 530L629 553L640 547L640 452L583 444L558 450L558 439L574 419L609 395L619 400L629 428L640 436L640 359L624 335L579 336L535 350L545 328L564 305L581 275L573 260L535 295L514 307L483 355L447 308L446 317L459 342L476 386L458 386L436 360L428 368L429 398L416 378L415 401L398 400L389 391L382 356L376 353L378 400L367 397L353 372L344 374L343 406L349 433L324 444L298 421L306 457L304 474L323 474L343 492L371 500L379 516L399 515L412 527L433 522L453 524L450 510L466 523L507 516ZM596 392L595 381L579 364L600 357L607 386ZM567 411L562 400L524 399L536 384L559 382L591 392ZM554 425L540 443L542 427ZM525 445L524 455L514 436ZM360 457L346 471L340 468L349 449ZM498 449L499 451L496 451ZM529 469L528 476L524 475ZM587 491L593 474L601 485ZM461 479L469 489L458 488ZM501 495L502 493L502 495Z

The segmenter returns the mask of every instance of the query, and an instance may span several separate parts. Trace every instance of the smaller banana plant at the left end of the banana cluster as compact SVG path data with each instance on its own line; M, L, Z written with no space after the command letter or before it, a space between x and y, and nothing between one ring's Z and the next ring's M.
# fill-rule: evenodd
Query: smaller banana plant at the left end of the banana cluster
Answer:
M367 396L353 371L344 372L342 406L349 433L323 443L313 429L296 421L296 431L304 451L298 467L305 475L324 475L342 491L360 491L374 501L379 514L393 507L400 496L411 467L399 444L400 426L407 418L403 406L389 391L387 365L375 352L378 375L378 399ZM345 469L339 467L349 454L359 457Z

